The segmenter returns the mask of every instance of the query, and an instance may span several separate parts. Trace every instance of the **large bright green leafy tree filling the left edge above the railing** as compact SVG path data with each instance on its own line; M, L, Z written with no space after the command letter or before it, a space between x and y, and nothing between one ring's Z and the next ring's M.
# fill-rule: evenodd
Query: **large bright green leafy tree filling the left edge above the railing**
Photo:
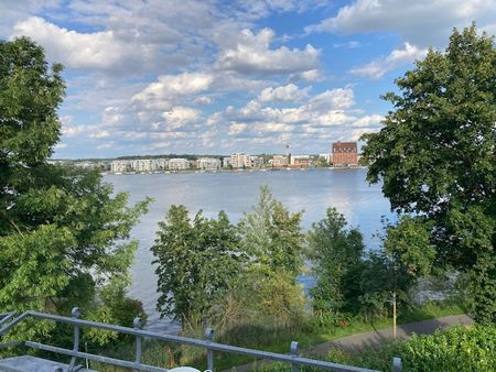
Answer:
M91 314L103 291L129 283L128 238L147 200L128 207L98 172L47 162L61 132L61 70L29 39L0 42L0 311ZM33 339L51 327L15 330Z

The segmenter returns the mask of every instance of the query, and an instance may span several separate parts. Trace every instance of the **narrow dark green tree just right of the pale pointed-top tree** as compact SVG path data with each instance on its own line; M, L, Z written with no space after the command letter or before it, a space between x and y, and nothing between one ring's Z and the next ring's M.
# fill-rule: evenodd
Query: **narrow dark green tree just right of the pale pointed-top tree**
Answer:
M354 287L358 283L353 277L357 277L355 269L360 266L364 242L358 229L347 230L346 226L343 215L327 208L326 218L313 223L309 231L309 258L315 276L311 294L316 310L354 308Z

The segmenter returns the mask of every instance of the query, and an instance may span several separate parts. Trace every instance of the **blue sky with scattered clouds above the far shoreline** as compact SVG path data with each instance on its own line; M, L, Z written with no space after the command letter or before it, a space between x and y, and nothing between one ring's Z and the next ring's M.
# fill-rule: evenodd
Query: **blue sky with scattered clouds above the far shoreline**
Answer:
M0 0L0 39L65 66L54 157L328 153L496 0Z

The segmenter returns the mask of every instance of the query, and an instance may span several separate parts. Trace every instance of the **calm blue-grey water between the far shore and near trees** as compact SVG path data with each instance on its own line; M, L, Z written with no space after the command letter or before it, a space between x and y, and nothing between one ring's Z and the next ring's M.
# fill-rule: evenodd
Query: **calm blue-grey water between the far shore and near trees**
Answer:
M291 211L304 210L303 228L324 218L328 206L346 216L351 226L359 227L367 248L379 247L373 234L380 230L380 217L390 216L389 203L382 197L380 185L369 186L366 169L309 169L278 172L176 173L150 175L107 175L105 179L116 192L130 193L131 201L150 196L154 201L150 211L132 230L140 243L131 269L131 297L143 303L149 315L149 328L174 331L170 321L160 320L155 313L157 278L151 265L157 223L173 204L185 205L192 214L203 209L206 217L225 210L233 222L256 203L261 185L269 185L272 194ZM302 278L302 282L309 278Z

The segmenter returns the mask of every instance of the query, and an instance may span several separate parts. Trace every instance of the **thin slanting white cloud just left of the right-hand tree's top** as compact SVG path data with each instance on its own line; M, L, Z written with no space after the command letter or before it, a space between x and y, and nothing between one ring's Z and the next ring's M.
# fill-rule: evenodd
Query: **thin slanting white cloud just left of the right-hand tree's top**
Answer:
M397 69L414 59L423 58L427 50L420 50L414 45L405 43L403 48L393 50L388 56L376 58L366 65L354 67L349 70L353 75L378 79L386 73Z

